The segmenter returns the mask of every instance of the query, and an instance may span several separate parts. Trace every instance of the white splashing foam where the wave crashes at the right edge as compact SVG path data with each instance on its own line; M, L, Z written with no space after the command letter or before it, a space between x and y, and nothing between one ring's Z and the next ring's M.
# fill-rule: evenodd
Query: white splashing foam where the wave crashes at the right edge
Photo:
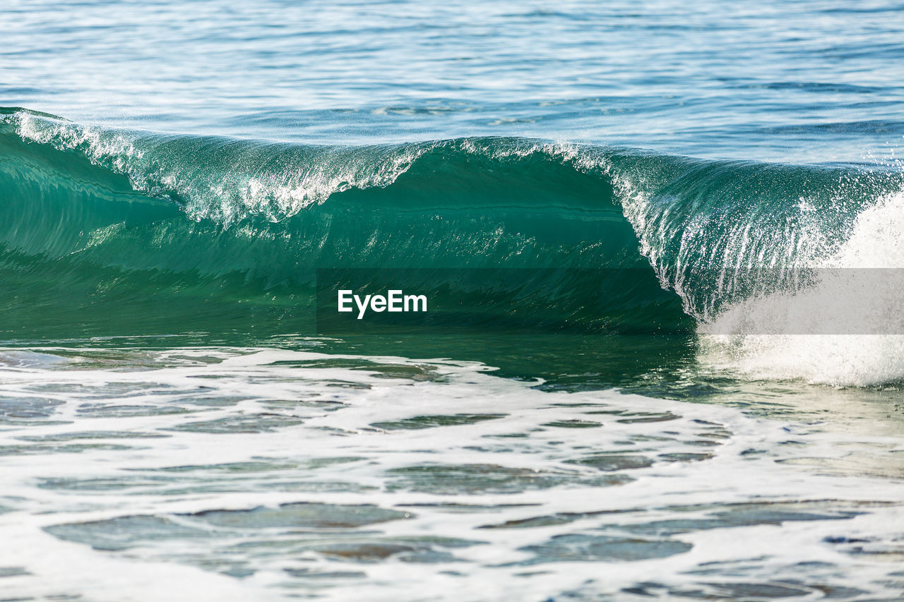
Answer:
M701 326L707 362L752 378L838 386L904 380L904 193L862 211L812 282L730 306Z

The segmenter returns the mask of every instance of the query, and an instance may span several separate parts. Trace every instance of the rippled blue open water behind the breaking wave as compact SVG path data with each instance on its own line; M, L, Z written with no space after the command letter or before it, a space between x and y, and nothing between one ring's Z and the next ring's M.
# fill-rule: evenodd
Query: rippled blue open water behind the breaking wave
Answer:
M8 0L0 31L0 106L161 131L808 163L904 136L893 1Z

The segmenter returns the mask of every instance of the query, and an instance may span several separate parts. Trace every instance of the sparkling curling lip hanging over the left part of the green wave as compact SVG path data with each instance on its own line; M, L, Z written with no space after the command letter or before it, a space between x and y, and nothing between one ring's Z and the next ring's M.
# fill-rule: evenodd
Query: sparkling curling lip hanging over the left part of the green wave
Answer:
M299 146L221 136L173 136L89 127L5 109L6 129L124 174L142 193L167 197L193 220L278 221L331 194L391 183L424 147Z

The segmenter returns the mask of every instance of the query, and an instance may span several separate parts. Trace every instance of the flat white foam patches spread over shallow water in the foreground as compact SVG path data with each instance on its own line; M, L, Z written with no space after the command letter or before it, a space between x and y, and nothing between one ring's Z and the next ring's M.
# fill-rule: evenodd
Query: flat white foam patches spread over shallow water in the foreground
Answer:
M901 448L869 428L839 437L712 404L545 392L470 362L0 358L6 596L899 593L881 559L901 553L904 492L863 466ZM246 512L259 507L270 514ZM349 508L361 526L338 526Z

